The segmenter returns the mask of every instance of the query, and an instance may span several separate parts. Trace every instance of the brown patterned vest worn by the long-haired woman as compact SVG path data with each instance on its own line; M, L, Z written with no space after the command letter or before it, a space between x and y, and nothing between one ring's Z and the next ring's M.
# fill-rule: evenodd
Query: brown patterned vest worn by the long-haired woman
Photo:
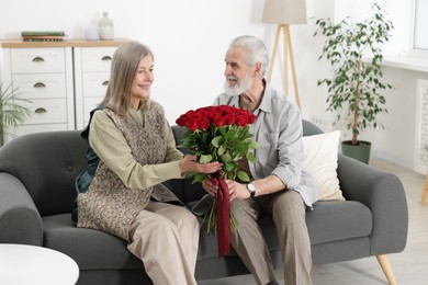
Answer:
M123 133L134 159L142 166L162 163L167 151L165 115L162 107L150 102L145 112L144 126L131 116L124 117L104 109ZM128 241L128 228L135 216L150 198L161 202L178 201L177 196L157 184L148 189L128 189L122 180L100 160L87 193L78 196L78 227L102 230Z

